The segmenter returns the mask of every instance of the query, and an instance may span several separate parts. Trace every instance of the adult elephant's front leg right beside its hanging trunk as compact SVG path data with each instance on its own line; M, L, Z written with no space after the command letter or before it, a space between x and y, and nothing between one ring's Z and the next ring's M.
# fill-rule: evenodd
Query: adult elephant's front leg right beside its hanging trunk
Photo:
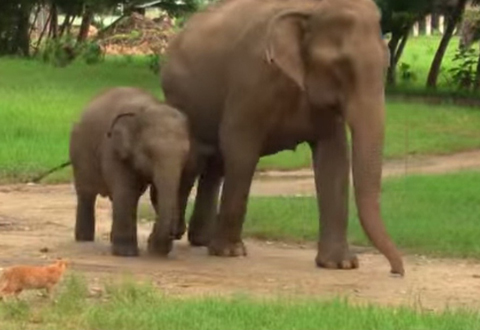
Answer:
M317 266L351 269L357 257L347 243L349 159L343 122L332 119L331 134L311 144L320 212Z

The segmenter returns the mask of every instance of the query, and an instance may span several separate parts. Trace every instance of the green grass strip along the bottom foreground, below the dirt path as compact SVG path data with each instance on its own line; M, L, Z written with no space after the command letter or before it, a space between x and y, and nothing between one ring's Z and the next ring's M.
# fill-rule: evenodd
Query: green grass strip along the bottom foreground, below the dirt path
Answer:
M0 304L2 330L130 329L480 329L473 310L428 312L358 305L346 299L230 297L174 298L150 284L127 281L87 298L85 280L66 278L56 302L23 298ZM45 299L43 299L45 300Z

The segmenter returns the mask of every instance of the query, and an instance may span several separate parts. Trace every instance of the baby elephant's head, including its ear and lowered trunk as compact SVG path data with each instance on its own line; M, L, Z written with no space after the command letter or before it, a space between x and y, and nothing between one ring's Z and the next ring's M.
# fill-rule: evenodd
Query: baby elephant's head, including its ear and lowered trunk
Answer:
M167 254L179 221L180 179L190 158L186 117L166 105L152 106L116 116L107 135L114 154L154 185L157 220L149 250Z

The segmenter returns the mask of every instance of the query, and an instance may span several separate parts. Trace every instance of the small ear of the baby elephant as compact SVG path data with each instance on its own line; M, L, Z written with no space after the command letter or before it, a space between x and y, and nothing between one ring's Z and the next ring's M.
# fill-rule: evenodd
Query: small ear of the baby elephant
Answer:
M134 116L134 113L122 113L116 116L107 133L107 137L112 140L113 149L123 160L130 156L133 149Z

